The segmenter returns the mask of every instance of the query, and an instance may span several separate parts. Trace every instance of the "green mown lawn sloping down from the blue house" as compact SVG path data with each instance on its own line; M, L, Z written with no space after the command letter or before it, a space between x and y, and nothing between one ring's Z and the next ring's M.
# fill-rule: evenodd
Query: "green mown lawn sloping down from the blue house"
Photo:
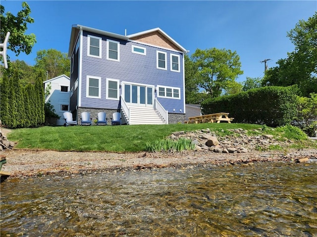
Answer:
M69 126L14 129L8 134L8 140L17 142L17 149L39 149L55 151L107 151L139 152L147 150L147 143L154 144L165 139L175 131L193 131L210 128L217 136L228 133L227 129L242 128L252 130L263 128L262 125L242 123L201 123L201 124L167 124L167 125L122 125L122 126ZM283 130L284 129L284 130ZM297 135L292 128L281 130L265 127L265 133L287 139ZM299 136L301 138L301 136ZM286 138L285 138L286 139ZM304 139L305 140L305 139ZM307 140L307 137L306 137ZM300 140L301 142L303 140ZM316 143L315 143L316 144Z

